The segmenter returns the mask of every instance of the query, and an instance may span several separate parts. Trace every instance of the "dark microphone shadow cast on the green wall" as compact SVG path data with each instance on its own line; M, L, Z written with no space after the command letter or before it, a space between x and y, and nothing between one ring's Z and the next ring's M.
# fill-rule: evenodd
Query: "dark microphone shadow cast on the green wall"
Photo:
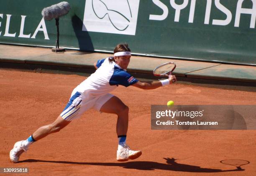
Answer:
M94 51L91 37L87 31L82 31L83 22L77 15L72 17L72 26L76 34L80 50Z

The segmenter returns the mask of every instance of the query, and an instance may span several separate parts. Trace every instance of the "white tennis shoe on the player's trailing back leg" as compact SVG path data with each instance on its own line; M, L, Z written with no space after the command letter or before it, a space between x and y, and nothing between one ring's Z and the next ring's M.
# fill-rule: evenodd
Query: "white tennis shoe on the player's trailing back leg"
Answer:
M27 151L28 147L23 144L23 141L18 141L14 144L13 149L10 151L10 160L13 163L17 163L19 161L20 155Z

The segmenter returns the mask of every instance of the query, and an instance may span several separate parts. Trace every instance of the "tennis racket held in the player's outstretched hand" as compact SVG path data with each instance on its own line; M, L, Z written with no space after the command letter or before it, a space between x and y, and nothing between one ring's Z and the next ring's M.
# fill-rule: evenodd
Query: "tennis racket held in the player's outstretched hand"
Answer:
M153 70L153 74L156 77L161 77L161 76L169 77L169 75L172 74L175 68L176 68L176 64L174 62L167 62L156 67ZM173 80L172 82L175 82L175 80Z

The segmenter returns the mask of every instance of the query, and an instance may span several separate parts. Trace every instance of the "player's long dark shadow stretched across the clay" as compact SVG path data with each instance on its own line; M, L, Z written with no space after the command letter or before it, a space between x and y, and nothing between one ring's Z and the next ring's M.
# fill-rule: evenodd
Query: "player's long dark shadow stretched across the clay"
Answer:
M201 168L200 166L193 166L188 164L179 164L175 162L176 159L164 158L167 164L158 163L154 161L130 161L124 163L91 163L91 162L72 162L72 161L44 161L27 159L19 161L18 163L25 162L46 162L46 163L61 163L61 164L84 164L84 165L95 165L95 166L120 166L125 169L138 169L152 171L155 169L167 170L167 171L182 171L182 172L228 172L228 171L244 171L244 169L232 169L232 170L221 170L221 169L210 169Z

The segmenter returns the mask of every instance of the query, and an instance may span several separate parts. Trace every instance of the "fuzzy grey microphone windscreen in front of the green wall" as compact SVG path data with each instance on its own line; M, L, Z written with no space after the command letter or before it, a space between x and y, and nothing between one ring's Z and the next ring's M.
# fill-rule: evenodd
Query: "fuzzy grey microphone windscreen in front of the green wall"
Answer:
M58 4L51 5L50 7L45 7L41 14L44 20L51 20L53 18L59 18L66 15L70 10L70 5L68 2L60 2Z

